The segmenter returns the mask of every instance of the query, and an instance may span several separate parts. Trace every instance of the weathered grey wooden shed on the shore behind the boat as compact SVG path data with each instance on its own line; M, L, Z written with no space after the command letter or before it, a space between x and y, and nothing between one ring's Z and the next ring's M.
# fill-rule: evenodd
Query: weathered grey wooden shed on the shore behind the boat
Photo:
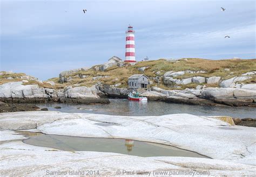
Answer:
M134 74L128 78L128 86L131 89L147 88L149 77L144 74Z

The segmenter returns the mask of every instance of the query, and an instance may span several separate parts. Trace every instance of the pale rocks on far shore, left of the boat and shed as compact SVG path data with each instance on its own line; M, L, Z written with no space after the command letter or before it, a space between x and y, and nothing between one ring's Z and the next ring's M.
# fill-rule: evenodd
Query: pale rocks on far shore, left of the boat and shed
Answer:
M40 88L37 84L23 85L22 82L9 82L0 86L0 101L5 103L77 103L109 104L110 101L96 87L71 87L55 90Z

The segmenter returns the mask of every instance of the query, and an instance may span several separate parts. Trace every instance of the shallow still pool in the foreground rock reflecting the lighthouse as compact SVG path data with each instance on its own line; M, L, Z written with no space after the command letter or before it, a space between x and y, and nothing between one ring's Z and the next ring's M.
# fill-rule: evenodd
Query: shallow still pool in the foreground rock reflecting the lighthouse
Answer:
M29 139L23 142L35 146L52 147L63 151L96 151L114 152L120 154L137 155L140 157L176 156L207 158L195 152L182 150L177 147L147 143L131 139L112 138L84 138L58 136L43 133L18 131Z

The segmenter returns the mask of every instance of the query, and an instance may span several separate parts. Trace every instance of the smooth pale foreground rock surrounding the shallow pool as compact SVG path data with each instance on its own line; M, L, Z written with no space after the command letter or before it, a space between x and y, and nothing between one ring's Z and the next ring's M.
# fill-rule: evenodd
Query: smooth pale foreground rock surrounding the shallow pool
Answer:
M0 168L4 176L42 176L45 175L45 165L49 171L98 169L103 176L116 175L118 169L148 173L159 169L166 172L170 169L206 171L212 176L243 176L256 172L255 143L252 143L255 128L233 125L232 122L221 121L219 117L188 114L120 117L57 111L11 112L0 116L0 150L3 152L0 155L3 165ZM110 126L100 126L99 122ZM176 146L212 159L143 158L110 152L61 151L25 144L22 140L26 137L18 134L17 130L64 136L134 139Z

